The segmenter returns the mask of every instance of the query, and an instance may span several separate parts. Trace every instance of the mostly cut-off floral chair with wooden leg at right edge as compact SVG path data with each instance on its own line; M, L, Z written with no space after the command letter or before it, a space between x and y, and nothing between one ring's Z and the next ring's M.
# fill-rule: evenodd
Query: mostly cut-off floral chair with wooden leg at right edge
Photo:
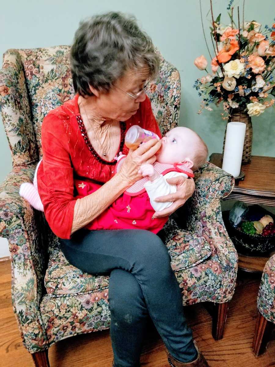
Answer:
M264 352L275 327L275 255L265 264L257 298L258 319L256 321L253 353Z

